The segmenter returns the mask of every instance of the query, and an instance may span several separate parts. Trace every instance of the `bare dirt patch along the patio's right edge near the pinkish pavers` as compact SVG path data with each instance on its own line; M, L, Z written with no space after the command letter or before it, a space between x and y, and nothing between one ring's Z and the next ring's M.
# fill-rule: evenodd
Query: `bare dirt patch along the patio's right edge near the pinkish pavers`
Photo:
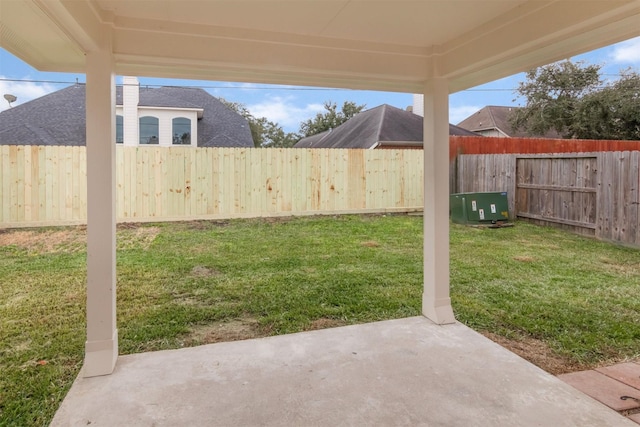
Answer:
M555 354L545 342L535 338L513 340L491 332L482 332L482 335L553 375L585 369L584 366Z

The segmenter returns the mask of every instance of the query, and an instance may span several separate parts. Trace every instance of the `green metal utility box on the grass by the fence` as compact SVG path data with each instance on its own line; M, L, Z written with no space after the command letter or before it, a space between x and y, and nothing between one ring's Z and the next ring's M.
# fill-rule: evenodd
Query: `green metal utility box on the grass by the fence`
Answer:
M449 197L451 220L458 224L503 225L509 221L507 193L458 193Z

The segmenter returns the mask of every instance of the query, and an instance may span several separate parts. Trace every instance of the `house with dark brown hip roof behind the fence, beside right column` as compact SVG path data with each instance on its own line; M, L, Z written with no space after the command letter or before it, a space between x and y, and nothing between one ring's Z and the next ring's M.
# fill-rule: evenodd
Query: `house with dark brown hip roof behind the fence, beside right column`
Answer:
M423 118L383 104L356 114L329 131L302 138L296 148L422 148ZM450 135L473 132L449 125Z

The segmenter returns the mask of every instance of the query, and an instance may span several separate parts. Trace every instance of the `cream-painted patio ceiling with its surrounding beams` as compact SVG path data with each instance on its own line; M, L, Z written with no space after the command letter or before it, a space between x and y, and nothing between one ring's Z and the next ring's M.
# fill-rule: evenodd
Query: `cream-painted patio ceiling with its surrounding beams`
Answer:
M640 35L640 0L3 0L0 46L85 72L455 92Z

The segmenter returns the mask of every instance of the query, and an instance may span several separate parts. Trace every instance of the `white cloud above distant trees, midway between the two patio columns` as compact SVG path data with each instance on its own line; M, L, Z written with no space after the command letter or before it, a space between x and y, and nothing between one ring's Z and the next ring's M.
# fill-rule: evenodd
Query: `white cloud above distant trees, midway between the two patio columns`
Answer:
M247 105L254 117L266 117L285 130L297 130L300 122L324 111L322 104L296 105L293 97L272 96L257 104Z

